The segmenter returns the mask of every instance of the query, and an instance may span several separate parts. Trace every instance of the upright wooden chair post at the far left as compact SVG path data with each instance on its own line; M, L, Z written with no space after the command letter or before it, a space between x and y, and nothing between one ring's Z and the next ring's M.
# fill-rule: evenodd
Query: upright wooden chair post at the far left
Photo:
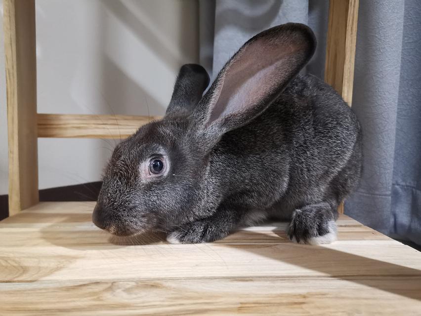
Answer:
M3 0L9 214L38 202L37 66L34 0Z

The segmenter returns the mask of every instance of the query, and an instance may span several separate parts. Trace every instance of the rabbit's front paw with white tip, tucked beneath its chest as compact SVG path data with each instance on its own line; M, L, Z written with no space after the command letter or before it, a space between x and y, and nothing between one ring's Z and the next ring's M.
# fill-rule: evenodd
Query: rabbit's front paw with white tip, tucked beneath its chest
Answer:
M228 233L205 219L177 228L167 236L167 241L170 243L202 243L212 242L227 235Z

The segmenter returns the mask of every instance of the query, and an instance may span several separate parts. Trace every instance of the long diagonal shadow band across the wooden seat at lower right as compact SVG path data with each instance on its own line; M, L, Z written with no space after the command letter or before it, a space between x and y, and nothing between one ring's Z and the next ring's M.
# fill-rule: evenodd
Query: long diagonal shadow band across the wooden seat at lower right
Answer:
M248 232L256 238L264 234ZM223 247L244 249L242 245ZM248 246L247 250L301 268L421 301L421 270L350 254L329 246L295 243ZM417 251L413 249L413 251ZM408 282L411 281L411 282ZM312 284L317 286L317 284ZM415 285L415 286L414 286Z

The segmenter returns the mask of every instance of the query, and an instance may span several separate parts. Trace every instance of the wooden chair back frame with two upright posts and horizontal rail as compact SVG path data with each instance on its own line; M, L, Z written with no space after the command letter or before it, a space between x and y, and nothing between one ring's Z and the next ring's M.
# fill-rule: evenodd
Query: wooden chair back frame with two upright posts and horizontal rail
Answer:
M359 0L331 0L329 6L325 80L349 105L358 4ZM126 137L148 118L37 113L35 0L3 0L3 7L11 216L39 202L38 137Z

